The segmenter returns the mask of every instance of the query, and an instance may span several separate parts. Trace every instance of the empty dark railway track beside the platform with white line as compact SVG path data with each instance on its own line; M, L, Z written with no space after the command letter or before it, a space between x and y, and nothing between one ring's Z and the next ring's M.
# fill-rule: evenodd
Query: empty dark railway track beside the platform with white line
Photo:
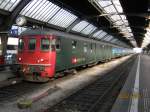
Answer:
M44 112L109 112L129 74L135 58L115 68L108 75L79 90Z

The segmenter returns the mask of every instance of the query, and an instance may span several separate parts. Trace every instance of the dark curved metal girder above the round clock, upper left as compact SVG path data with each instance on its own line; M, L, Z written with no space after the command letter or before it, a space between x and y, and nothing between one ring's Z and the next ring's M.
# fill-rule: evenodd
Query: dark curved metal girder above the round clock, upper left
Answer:
M14 21L16 20L17 16L21 12L21 10L30 2L31 0L22 0L16 8L11 12L10 17L5 22L5 26L3 30L9 30Z

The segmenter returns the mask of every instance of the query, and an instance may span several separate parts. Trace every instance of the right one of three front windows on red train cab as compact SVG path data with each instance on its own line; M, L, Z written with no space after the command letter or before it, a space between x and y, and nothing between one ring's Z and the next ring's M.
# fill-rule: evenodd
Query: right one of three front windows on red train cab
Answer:
M41 50L50 50L50 40L48 38L41 39Z

